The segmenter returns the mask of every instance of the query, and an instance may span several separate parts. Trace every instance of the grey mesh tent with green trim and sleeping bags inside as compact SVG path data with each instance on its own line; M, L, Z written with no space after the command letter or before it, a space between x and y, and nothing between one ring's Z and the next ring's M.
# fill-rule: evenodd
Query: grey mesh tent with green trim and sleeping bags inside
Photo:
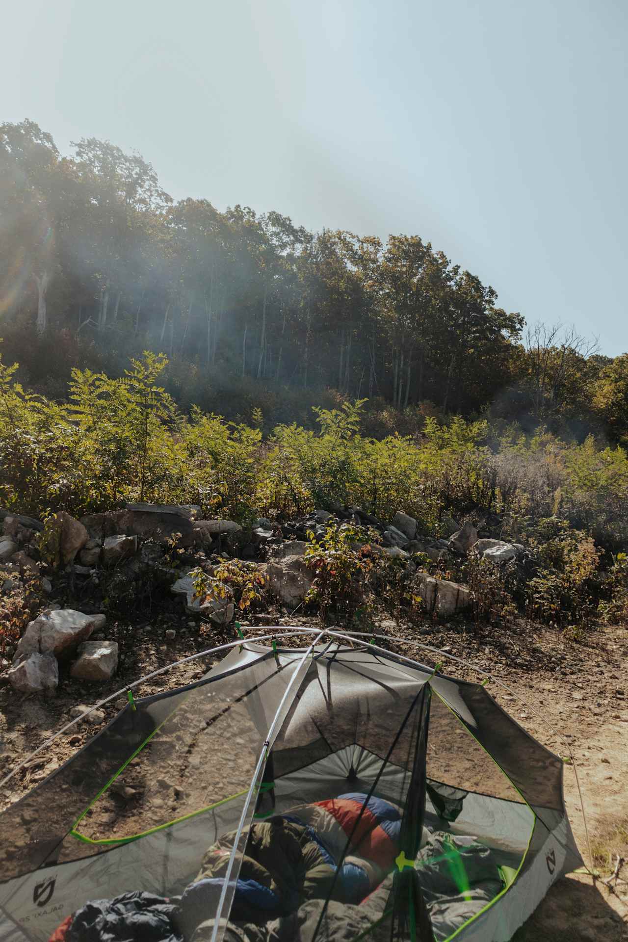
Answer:
M498 942L581 866L562 760L485 686L277 630L129 693L0 815L0 942L100 938L118 898L142 940Z

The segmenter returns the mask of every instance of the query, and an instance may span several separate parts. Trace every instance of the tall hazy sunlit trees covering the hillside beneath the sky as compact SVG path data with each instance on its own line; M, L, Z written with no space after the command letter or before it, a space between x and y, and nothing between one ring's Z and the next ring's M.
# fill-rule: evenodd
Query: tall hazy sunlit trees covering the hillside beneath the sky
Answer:
M72 366L122 375L153 349L183 408L246 421L311 424L314 403L366 398L396 416L384 431L412 411L613 444L628 430L626 355L526 327L419 235L174 203L139 154L83 138L63 155L28 120L0 125L0 219L5 360L52 398Z

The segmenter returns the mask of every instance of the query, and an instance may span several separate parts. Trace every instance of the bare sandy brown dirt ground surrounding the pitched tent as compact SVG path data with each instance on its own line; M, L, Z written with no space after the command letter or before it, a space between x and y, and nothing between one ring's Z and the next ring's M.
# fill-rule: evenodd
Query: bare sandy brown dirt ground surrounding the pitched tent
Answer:
M277 624L282 623L283 630L288 624L309 628L316 624L307 619L288 623L278 617ZM176 630L173 642L166 642L168 628ZM523 622L516 630L489 627L479 633L473 626L444 629L425 625L417 630L388 621L379 630L390 636L384 646L425 663L443 658L427 650L419 655L402 639L472 661L485 675L507 684L511 690L504 690L496 682L490 682L487 689L532 735L564 758L569 758L565 740L571 745L582 802L573 763L566 761L567 807L578 847L590 866L584 804L593 866L600 875L595 881L587 874L572 874L560 880L513 942L628 940L628 884L611 879L609 886L605 882L615 869L618 855L628 861L628 630L604 629L578 642ZM263 631L259 629L256 634ZM109 625L105 636L121 643L121 667L110 684L79 684L62 672L56 697L47 701L20 698L8 687L0 688L0 778L68 723L76 704L93 705L138 676L235 637L233 626L219 631L203 629L200 635L199 626L178 613L159 615L133 627ZM290 643L296 645L298 641ZM155 677L142 684L137 695L172 689L197 679L219 657L201 658ZM448 663L445 672L477 679L477 674L456 663ZM106 705L105 718L99 723L75 724L29 761L27 768L3 789L2 805L16 801L54 771L111 719L122 703L117 698ZM562 740L547 723L561 734ZM175 797L177 788L185 788L184 782L169 785ZM620 870L620 878L628 881L628 863Z

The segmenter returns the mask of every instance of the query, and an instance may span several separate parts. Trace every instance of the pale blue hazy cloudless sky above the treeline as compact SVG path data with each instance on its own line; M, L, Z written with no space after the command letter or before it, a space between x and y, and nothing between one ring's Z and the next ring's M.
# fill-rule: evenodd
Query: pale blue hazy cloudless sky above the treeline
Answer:
M176 199L418 234L628 349L625 0L5 0L0 122Z

